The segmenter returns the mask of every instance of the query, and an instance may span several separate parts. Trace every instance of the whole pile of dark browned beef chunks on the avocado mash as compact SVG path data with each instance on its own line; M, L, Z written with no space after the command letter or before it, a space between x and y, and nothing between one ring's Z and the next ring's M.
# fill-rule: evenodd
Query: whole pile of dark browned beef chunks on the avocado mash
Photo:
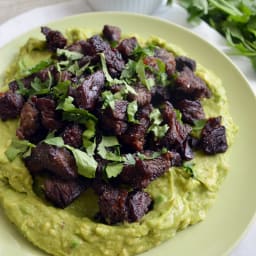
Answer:
M154 85L147 88L135 74L130 86L136 93L129 91L122 99L114 101L114 107L103 107L102 93L110 91L115 94L125 84L108 84L100 64L100 54L105 56L110 76L120 79L129 61L138 61L138 49L141 46L137 39L121 39L121 30L109 25L104 26L101 35L72 45L67 45L67 39L59 31L43 27L42 33L55 64L20 81L12 81L9 90L0 94L0 117L3 121L20 118L17 137L36 145L24 162L33 177L44 174L44 196L56 207L67 207L91 187L98 195L101 221L107 224L138 221L154 207L151 196L144 189L164 175L170 167L182 166L184 161L191 160L192 149L206 154L226 151L225 127L221 125L221 117L206 120L199 137L193 137L191 133L198 120L205 120L200 100L211 97L205 82L195 74L194 60L174 56L166 49L156 46L153 55L140 55L140 59L148 67L145 69L146 78L153 79ZM57 56L57 49L82 54L82 58L77 60L78 66L93 65L93 71L86 69L79 76L68 70L60 71L56 68L56 60L63 61L65 56ZM167 85L162 85L156 79L159 61L164 63L169 83ZM50 132L54 132L56 136L63 138L65 144L85 150L82 134L86 125L63 120L63 110L56 109L59 102L51 95L20 93L20 83L29 89L35 79L46 82L49 74L52 88L60 81L70 81L72 86L68 89L67 97L74 98L73 103L77 108L96 116L96 143L102 135L116 136L120 143L120 154L133 156L134 163L124 163L117 177L106 179L104 171L109 161L95 151L94 158L98 163L96 177L85 178L78 174L74 156L68 149L43 142ZM130 122L127 116L128 105L133 101L138 106L135 114L137 122ZM154 122L150 118L154 109L160 111L160 125L168 127L163 136L158 137L152 131L148 132ZM181 113L181 120L178 112Z

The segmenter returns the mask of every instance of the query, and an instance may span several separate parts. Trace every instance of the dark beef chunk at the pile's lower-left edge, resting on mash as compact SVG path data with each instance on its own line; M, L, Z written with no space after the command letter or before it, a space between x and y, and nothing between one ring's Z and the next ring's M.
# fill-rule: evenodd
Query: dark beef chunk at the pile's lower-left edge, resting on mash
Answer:
M47 178L44 181L45 197L56 207L65 208L70 205L86 189L80 179L61 180Z

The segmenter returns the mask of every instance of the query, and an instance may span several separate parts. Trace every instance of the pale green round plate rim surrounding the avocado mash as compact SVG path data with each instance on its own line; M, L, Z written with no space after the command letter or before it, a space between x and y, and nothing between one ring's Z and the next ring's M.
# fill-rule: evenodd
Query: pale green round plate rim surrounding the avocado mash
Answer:
M155 35L174 43L222 79L231 114L239 126L236 142L230 152L231 171L205 221L179 232L174 239L142 255L227 255L256 211L256 101L246 79L212 45L182 27L155 18L125 13L86 13L51 23L50 26L61 30L87 27L100 31L104 24L120 26L124 33L136 33L144 38ZM39 37L39 29L0 49L0 76L20 46L31 36ZM27 242L3 213L0 216L0 229L0 255L45 255Z

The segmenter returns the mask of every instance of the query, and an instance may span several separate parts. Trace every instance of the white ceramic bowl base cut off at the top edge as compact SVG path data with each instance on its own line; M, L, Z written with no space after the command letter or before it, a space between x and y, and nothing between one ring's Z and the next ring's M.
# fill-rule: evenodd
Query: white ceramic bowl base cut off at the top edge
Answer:
M151 14L167 0L87 0L95 11L126 11Z

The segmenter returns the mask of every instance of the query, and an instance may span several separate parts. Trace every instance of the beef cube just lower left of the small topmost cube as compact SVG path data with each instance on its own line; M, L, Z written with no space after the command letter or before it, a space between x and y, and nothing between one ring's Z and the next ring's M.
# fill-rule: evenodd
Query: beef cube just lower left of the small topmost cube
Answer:
M108 49L110 49L110 45L99 35L92 36L84 45L84 53L90 56L95 56L98 53L104 52Z

